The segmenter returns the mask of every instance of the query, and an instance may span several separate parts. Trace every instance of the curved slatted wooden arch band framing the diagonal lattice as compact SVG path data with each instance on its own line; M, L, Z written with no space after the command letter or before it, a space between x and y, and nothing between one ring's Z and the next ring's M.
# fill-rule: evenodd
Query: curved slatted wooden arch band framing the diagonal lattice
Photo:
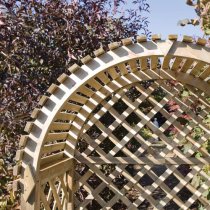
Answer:
M177 41L175 35L166 41L156 35L152 41L139 36L135 43L128 38L110 44L109 49L105 52L100 48L94 52L95 58L81 60L84 65L71 66L69 75L61 75L59 84L50 86L48 96L39 102L40 108L33 111L35 121L26 125L29 134L21 137L19 165L14 169L15 175L21 175L22 184L26 176L34 183L25 187L25 208L39 208L37 186L52 173L55 164L69 166L66 160L74 157L83 125L109 95L144 80L177 80L195 87L203 98L210 95L210 49L203 39L194 44L187 36L183 41Z

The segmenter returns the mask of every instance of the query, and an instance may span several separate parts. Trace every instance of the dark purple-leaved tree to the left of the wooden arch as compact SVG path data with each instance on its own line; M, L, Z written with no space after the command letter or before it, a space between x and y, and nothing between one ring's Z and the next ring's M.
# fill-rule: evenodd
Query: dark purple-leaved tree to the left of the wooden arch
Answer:
M149 35L147 0L0 0L0 208L31 111L73 63L100 46ZM5 207L6 208L6 207Z

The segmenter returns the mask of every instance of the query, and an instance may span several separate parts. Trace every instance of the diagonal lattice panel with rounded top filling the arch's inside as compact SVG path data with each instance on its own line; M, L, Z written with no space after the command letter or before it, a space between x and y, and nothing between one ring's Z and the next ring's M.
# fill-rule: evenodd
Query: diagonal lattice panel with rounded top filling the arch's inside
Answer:
M200 95L189 89L171 80L133 83L96 107L75 153L78 209L209 205L202 197L209 185L202 171L209 128L201 123L209 108L203 102L195 110ZM197 189L194 177L205 180Z

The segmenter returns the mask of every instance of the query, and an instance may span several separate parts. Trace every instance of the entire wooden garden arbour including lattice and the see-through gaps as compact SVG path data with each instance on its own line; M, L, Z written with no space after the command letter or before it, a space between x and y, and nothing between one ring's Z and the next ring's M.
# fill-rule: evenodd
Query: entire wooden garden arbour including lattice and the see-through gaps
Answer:
M42 97L17 152L22 209L210 209L210 50L152 38L95 51Z

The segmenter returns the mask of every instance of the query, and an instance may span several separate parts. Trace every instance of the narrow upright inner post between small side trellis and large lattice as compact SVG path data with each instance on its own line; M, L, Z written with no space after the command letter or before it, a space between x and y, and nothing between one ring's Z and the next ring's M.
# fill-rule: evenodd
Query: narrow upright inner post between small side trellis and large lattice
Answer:
M74 210L74 192L75 192L75 159L72 159L70 170L67 172L67 185L69 192L69 200L67 210Z

